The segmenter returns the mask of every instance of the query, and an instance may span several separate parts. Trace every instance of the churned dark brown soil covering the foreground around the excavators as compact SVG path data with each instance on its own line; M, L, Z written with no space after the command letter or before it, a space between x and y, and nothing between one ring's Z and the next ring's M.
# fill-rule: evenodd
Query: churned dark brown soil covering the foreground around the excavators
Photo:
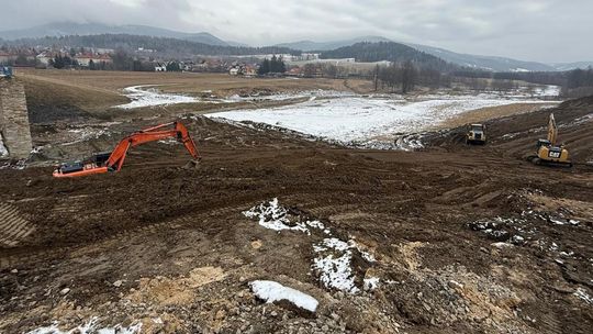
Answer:
M583 99L555 110L572 169L523 159L545 135L547 111L489 122L486 146L461 144L458 129L413 153L187 118L203 156L197 168L181 168L179 145L152 143L113 175L2 169L0 219L27 233L11 230L11 244L0 244L0 332L98 316L139 321L146 333L589 333L593 122L573 123L592 108ZM107 149L167 120L91 124L110 134L51 154ZM37 141L64 141L68 126L38 127ZM353 269L379 277L379 288L325 288L311 268L322 235L267 230L242 214L275 197L363 245L376 263L355 256ZM320 307L264 303L249 290L255 279Z

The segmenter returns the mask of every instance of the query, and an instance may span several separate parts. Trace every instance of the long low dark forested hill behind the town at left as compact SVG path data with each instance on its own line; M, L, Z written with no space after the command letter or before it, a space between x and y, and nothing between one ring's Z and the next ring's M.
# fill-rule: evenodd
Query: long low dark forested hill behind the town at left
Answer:
M101 35L69 35L59 37L21 38L5 41L11 45L23 46L65 46L65 47L98 47L98 48L124 48L154 49L159 54L168 55L261 55L261 54L300 54L288 47L266 46L224 46L197 43L169 37L154 37L128 34L101 34Z

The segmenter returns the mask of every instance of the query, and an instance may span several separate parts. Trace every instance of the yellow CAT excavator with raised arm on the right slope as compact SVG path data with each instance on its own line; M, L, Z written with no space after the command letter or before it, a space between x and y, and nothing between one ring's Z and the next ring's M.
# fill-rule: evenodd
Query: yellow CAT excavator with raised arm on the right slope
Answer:
M557 145L558 126L553 113L550 113L548 121L548 138L537 141L537 155L527 157L536 165L551 165L561 167L572 167L568 149L563 144Z

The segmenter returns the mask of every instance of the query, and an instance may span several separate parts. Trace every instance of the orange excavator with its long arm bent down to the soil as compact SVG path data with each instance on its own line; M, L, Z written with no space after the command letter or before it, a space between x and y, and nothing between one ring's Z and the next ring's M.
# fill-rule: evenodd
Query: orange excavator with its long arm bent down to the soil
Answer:
M166 127L172 129L167 130ZM190 137L186 126L180 122L172 122L133 133L120 141L113 152L99 153L85 160L61 164L54 171L54 177L78 177L108 171L120 171L125 160L125 156L127 155L127 151L131 147L169 137L177 138L178 142L182 143L194 158L193 162L200 158L195 144Z

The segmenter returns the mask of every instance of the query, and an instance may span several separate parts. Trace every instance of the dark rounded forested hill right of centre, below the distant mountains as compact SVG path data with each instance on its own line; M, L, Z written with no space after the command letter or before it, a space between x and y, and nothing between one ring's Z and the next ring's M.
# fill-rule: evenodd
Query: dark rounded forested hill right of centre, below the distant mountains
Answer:
M350 46L326 51L321 54L321 58L356 58L356 62L413 62L416 66L437 69L440 71L455 70L459 67L449 64L438 57L419 52L413 47L395 42L361 42Z

